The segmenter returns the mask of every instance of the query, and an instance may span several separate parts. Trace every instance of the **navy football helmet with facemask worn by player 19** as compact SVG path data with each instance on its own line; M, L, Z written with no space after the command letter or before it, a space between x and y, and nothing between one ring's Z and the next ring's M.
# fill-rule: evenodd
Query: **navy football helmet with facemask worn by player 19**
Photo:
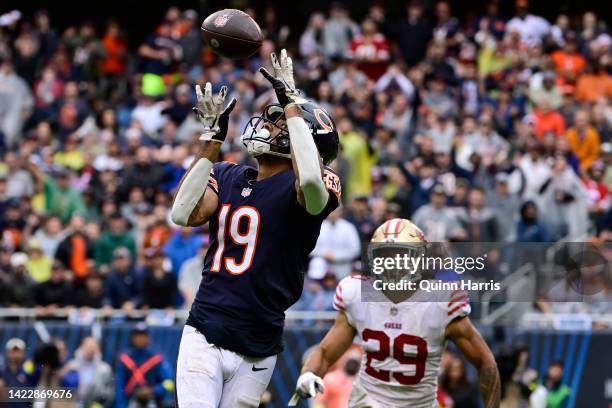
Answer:
M301 103L297 106L301 108L304 120L310 127L323 163L331 163L338 155L340 145L336 124L329 114L313 101ZM260 116L253 116L249 120L241 140L250 154L253 156L270 154L291 158L289 130L286 124L279 123L284 118L285 112L282 106L272 104L266 106ZM266 123L273 129L279 130L275 137L270 137L270 131L264 128Z

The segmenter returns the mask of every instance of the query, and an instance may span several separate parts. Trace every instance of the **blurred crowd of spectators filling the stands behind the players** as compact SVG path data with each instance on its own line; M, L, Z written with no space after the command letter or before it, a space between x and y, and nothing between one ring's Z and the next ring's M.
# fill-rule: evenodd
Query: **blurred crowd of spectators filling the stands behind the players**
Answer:
M612 240L612 37L592 12L549 22L518 0L471 21L418 0L359 21L340 3L303 33L274 8L248 60L203 48L194 10L142 44L116 21L59 30L41 10L0 17L0 304L163 309L193 298L206 227L178 228L172 194L201 132L193 85L239 104L223 159L274 101L256 74L289 48L298 84L332 113L342 209L325 221L298 309L331 310L338 279L385 219L429 241ZM254 10L247 10L255 14Z

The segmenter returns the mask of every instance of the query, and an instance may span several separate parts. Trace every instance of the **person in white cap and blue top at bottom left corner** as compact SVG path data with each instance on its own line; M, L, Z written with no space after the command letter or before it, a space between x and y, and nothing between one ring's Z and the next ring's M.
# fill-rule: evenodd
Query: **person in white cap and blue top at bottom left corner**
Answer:
M3 387L33 387L36 385L32 364L26 361L26 343L18 337L6 342L5 366L0 371L0 391ZM1 394L1 392L0 392ZM27 403L11 407L27 407Z

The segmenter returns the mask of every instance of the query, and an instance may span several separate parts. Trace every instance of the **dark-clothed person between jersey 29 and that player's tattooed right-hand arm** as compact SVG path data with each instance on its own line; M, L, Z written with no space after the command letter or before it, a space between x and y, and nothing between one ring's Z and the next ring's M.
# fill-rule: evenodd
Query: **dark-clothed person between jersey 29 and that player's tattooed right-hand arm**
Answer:
M468 379L462 359L453 359L445 368L440 378L440 387L452 398L453 408L480 407L478 391Z

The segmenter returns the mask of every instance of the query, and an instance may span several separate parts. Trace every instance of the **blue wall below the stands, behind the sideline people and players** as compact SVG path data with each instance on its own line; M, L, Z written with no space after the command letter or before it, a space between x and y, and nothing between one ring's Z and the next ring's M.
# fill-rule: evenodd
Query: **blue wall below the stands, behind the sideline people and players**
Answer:
M78 347L81 339L91 334L90 326L73 326L67 323L50 322L46 324L53 337L66 342L70 355ZM119 352L129 347L129 323L109 323L102 326L102 353L105 361L115 365ZM152 347L164 353L172 363L176 361L182 326L151 327ZM291 398L303 353L321 340L325 334L322 327L295 327L285 333L285 351L278 359L270 389L274 396L272 407L286 407ZM529 347L529 365L545 373L548 364L554 360L565 363L563 382L573 390L566 408L608 407L612 404L612 390L606 396L606 382L612 387L612 333L578 333L548 331L507 330L507 345L521 343ZM11 337L20 337L28 344L29 356L39 343L38 336L30 325L17 322L0 322L0 344ZM500 344L493 345L493 348Z

